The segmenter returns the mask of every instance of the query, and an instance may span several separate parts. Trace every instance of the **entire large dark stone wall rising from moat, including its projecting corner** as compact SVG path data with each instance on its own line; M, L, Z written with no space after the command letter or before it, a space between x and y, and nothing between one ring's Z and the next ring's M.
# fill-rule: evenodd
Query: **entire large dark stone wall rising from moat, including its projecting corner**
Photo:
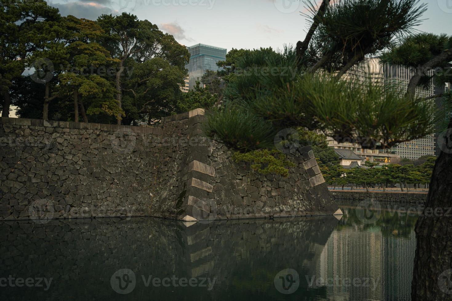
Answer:
M340 213L310 148L259 175L203 137L204 110L159 128L2 118L0 220L156 216L185 221Z

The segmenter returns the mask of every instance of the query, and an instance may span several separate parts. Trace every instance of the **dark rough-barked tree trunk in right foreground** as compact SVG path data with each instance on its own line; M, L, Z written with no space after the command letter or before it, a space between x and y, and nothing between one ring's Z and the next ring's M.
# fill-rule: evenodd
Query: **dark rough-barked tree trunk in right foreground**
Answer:
M449 123L451 128L452 120ZM424 214L415 227L417 247L411 284L414 301L452 300L451 136L448 132L443 151L433 168ZM434 213L435 210L438 214Z

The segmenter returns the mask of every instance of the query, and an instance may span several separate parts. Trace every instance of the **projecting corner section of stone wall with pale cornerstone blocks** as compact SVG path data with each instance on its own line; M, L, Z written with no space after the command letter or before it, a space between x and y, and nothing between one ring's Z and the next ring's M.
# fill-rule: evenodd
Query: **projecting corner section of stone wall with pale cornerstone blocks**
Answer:
M205 111L188 112L190 139L185 158L187 194L184 211L198 221L333 215L339 207L330 198L311 147L288 157L297 163L290 176L261 175L244 162L232 160L225 145L202 135ZM177 117L176 117L177 119Z

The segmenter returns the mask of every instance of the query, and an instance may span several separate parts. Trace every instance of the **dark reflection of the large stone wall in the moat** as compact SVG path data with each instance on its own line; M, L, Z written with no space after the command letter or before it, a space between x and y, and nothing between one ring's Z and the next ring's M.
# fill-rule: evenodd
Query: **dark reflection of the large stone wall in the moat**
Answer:
M0 224L0 278L53 278L47 292L36 287L1 287L3 300L236 300L256 295L285 300L273 278L292 268L307 287L330 233L334 217L197 223L133 218L59 220L47 224ZM137 285L118 295L110 278L131 269ZM145 287L147 278L216 278L206 287ZM239 292L240 294L235 294ZM323 294L322 290L315 294ZM305 300L306 289L290 296Z

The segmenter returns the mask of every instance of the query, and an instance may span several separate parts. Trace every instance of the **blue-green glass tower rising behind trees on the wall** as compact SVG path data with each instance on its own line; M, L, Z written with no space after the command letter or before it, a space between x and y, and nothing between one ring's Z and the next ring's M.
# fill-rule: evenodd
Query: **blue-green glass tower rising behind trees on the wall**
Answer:
M188 69L188 88L191 90L197 81L201 81L206 70L221 70L217 63L226 60L227 50L204 44L189 46L187 49L190 52L190 61L186 68Z

